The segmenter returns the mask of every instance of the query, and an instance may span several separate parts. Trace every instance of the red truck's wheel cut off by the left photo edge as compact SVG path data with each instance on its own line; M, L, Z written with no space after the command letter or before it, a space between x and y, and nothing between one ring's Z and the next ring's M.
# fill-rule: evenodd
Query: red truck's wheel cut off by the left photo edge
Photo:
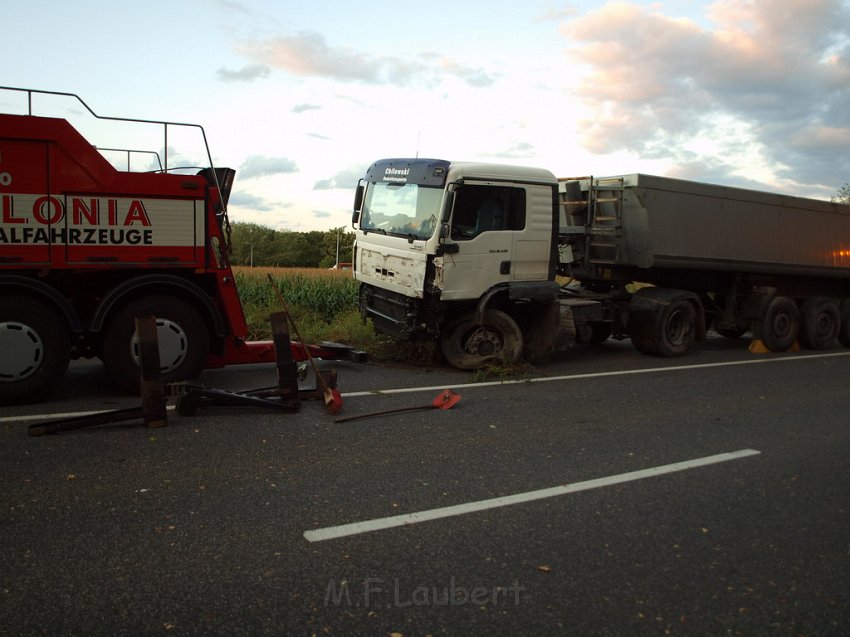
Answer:
M68 369L71 339L47 305L25 296L0 303L0 404L44 399Z

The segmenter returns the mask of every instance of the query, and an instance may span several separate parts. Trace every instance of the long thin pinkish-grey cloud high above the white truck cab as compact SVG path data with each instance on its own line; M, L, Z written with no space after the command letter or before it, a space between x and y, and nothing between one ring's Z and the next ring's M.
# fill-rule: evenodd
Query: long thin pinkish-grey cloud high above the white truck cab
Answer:
M410 56L409 59L438 58L437 64L412 62L408 58L376 57L345 47L330 46L320 33L270 38L243 47L252 59L303 77L322 77L341 82L407 85L433 82L454 76L470 86L487 86L493 78L480 68L466 67L435 54Z

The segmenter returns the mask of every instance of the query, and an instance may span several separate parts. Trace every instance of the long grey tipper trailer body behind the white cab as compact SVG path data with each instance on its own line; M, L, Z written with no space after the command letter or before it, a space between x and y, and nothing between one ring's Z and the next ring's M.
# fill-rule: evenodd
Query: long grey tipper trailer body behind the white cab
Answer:
M619 267L850 278L850 206L642 174L559 190L580 277Z

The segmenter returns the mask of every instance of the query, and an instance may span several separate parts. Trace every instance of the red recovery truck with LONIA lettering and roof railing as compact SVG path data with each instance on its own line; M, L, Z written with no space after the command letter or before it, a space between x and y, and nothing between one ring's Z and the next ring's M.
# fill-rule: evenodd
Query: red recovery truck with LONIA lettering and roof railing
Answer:
M163 382L276 361L272 341L247 338L229 260L235 171L213 166L201 126L101 117L72 93L0 94L4 110L17 98L20 111L0 114L0 404L44 398L79 358L99 357L138 392L139 316L156 317ZM87 113L92 130L155 127L159 145L95 147L66 118L35 115L38 99L70 100L65 111ZM201 166L172 165L181 132L199 140ZM293 359L305 360L305 348L316 358L352 353L293 343Z

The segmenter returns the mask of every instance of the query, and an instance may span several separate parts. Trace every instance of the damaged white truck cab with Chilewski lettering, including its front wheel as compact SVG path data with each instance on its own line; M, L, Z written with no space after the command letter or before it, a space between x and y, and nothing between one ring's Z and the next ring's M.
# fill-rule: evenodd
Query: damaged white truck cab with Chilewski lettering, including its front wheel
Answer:
M456 367L516 359L558 298L557 199L544 169L375 162L352 219L364 317L402 340L439 340Z

